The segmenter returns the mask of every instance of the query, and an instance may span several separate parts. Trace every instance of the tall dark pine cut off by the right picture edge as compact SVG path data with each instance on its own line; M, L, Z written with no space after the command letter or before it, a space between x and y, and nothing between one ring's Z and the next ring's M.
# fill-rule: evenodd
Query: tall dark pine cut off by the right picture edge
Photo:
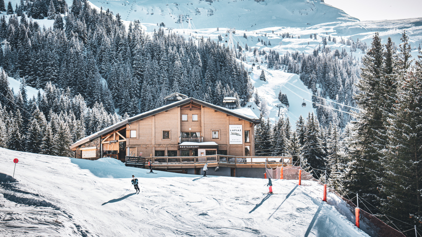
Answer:
M406 64L405 60L400 63ZM390 114L387 128L390 144L384 149L383 163L387 174L382 180L382 191L387 196L382 210L393 218L419 227L422 226L421 91L422 56L419 55L412 72L407 73L398 87L398 102ZM399 229L408 227L400 222L396 224Z

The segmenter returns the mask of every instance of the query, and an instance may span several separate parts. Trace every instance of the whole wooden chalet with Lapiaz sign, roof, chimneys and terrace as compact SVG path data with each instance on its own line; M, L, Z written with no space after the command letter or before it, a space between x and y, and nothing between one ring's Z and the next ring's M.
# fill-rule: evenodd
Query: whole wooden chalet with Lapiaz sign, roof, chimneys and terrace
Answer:
M191 174L199 174L208 162L215 167L210 175L261 178L265 157L256 157L260 164L252 164L254 126L260 120L250 108L235 108L235 102L226 97L225 108L173 93L165 97L164 106L85 137L70 149L79 159L113 157L138 167L151 160L154 169ZM260 170L236 175L239 167Z

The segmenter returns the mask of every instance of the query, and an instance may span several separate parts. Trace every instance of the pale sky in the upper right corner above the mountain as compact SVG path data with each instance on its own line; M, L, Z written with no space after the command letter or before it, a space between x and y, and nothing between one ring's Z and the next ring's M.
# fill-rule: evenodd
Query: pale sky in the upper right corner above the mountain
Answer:
M361 21L422 17L422 0L325 0Z

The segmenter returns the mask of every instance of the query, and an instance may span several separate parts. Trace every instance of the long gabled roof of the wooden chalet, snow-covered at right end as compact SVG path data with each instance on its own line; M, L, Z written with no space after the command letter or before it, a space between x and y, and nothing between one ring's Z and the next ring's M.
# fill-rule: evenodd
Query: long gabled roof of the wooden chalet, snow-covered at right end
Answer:
M73 143L70 146L70 150L75 151L76 148L79 145L87 143L91 140L94 140L95 138L100 137L104 134L107 134L108 132L111 132L114 129L118 129L118 128L120 128L120 127L122 127L122 126L124 126L128 123L131 123L133 121L137 121L141 118L146 118L146 117L152 116L152 115L157 114L157 113L161 113L162 111L169 110L171 108L175 108L175 107L180 106L180 105L184 105L184 104L189 103L191 101L195 102L197 104L203 105L205 107L220 111L222 113L226 113L226 114L231 115L233 117L240 118L240 119L243 119L245 121L254 123L254 124L260 124L261 123L260 119L252 112L252 110L250 108L238 108L238 109L235 109L235 110L230 110L230 109L218 106L218 105L213 105L213 104L210 104L208 102L205 102L205 101L202 101L202 100L197 100L195 98L189 97L189 98L184 99L184 100L179 100L177 102L173 102L171 104L164 105L160 108L156 108L156 109L153 109L153 110L146 111L144 113L140 113L138 115L135 115L133 117L130 117L130 118L127 118L123 121L120 121L116 124L113 124L110 127L107 127L107 128L105 128L105 129L103 129L99 132L96 132L92 135L89 135L88 137L84 137L81 140L78 140L76 143Z

